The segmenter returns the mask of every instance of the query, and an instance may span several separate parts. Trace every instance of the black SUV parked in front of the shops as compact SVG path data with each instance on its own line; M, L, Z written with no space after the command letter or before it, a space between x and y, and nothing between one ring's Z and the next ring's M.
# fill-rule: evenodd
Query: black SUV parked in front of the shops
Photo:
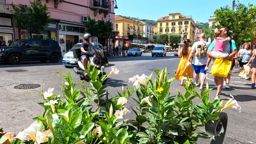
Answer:
M55 40L21 39L12 46L0 47L0 61L18 64L21 61L59 62L61 48Z

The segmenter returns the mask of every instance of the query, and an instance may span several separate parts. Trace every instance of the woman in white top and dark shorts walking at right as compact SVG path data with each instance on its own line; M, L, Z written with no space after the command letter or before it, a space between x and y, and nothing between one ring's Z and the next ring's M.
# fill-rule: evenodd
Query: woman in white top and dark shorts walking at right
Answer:
M252 56L252 51L249 49L249 43L243 44L243 49L240 49L237 53L238 58L240 59L239 61L239 66L240 66L240 71L244 70L243 65L247 64L249 62L249 59ZM242 77L239 76L239 79ZM247 74L246 80L248 80L250 77Z

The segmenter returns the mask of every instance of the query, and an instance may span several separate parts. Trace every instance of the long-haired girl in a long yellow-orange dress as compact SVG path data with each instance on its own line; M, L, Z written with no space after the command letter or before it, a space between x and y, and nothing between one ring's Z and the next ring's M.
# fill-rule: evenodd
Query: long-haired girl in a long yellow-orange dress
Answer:
M182 57L182 58L181 58L181 61L179 62L179 66L176 71L175 79L181 80L181 86L184 83L184 79L187 79L187 75L190 79L193 78L193 68L192 68L191 64L187 64L189 53L191 51L190 44L191 44L191 41L189 39L185 39L183 47L178 52L178 56ZM190 59L190 63L191 62L192 62L192 59Z

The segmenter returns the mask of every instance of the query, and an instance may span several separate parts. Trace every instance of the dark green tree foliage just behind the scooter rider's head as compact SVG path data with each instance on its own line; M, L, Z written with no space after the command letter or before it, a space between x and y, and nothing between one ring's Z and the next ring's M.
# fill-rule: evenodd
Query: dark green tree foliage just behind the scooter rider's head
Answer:
M94 20L89 17L88 22L85 22L86 32L92 36L98 37L99 41L102 40L102 36L108 36L112 34L113 23L110 21Z

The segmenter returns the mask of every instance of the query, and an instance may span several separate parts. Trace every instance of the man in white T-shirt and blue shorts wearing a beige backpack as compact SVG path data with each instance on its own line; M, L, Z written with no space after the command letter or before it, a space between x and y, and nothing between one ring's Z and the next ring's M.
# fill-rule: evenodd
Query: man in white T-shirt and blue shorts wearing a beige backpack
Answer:
M203 90L203 85L205 84L206 79L206 63L208 59L207 55L207 47L209 47L210 43L205 41L205 34L201 33L199 35L199 41L196 41L190 52L189 58L193 58L193 69L195 71L194 79L195 83L198 83L200 76L200 90Z

